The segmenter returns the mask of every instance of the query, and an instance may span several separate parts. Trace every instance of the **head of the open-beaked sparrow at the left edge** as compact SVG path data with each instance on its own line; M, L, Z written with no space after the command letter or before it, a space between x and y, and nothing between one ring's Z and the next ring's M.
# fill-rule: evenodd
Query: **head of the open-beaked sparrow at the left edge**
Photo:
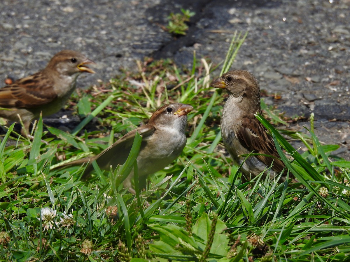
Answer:
M86 66L87 64L95 63L79 52L63 50L51 58L46 68L56 70L59 74L69 76L83 72L95 73L91 68Z

